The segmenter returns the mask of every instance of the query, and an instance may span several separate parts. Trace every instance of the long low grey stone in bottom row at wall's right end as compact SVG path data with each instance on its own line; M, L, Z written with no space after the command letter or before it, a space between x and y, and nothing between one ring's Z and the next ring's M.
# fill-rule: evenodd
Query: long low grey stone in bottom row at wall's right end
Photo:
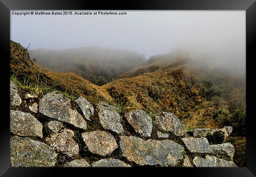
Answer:
M210 155L206 155L206 159L196 156L193 163L196 167L237 167L232 161L219 159Z

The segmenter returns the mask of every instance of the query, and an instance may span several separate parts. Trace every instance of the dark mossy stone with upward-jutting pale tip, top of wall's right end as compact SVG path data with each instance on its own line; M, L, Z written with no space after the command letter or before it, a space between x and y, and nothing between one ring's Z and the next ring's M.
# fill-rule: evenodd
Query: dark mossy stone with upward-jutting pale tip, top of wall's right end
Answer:
M210 144L222 144L226 137L228 137L232 133L232 127L224 127L222 129L213 129L208 133L206 138L208 139Z

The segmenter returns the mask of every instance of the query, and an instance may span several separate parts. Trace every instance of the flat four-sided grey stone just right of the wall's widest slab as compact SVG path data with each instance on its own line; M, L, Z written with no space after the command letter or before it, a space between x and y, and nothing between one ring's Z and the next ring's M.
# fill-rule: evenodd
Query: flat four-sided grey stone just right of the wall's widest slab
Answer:
M191 153L210 153L210 145L207 138L182 138L187 149Z

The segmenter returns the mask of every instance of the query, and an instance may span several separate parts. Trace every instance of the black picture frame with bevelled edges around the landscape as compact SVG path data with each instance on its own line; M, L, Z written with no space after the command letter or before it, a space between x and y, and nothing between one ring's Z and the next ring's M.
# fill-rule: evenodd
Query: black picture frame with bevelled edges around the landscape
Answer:
M247 167L239 168L10 168L9 159L9 46L10 46L10 10L244 10L246 11L246 92L247 92ZM2 56L2 111L0 129L0 175L2 176L52 176L53 173L62 175L129 175L129 173L152 173L156 175L178 175L186 173L189 176L225 176L250 177L256 175L256 138L254 131L253 100L254 87L253 65L255 58L256 36L256 2L255 0L128 0L128 1L84 1L84 0L0 0L0 50ZM21 27L22 28L22 27ZM250 83L251 82L251 83ZM5 97L5 98L4 98ZM125 170L125 171L124 171ZM106 171L106 172L105 172ZM111 173L110 173L111 171ZM125 172L125 173L124 173Z

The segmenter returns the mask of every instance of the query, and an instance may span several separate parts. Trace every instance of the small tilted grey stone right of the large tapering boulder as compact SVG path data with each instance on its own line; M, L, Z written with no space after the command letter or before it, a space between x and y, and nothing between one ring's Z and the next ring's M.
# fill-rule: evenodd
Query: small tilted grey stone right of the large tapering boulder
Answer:
M78 106L82 110L83 116L85 117L85 119L91 120L89 117L94 113L93 105L91 105L91 103L89 103L82 96L79 96L78 99L75 100L75 102L78 104Z

